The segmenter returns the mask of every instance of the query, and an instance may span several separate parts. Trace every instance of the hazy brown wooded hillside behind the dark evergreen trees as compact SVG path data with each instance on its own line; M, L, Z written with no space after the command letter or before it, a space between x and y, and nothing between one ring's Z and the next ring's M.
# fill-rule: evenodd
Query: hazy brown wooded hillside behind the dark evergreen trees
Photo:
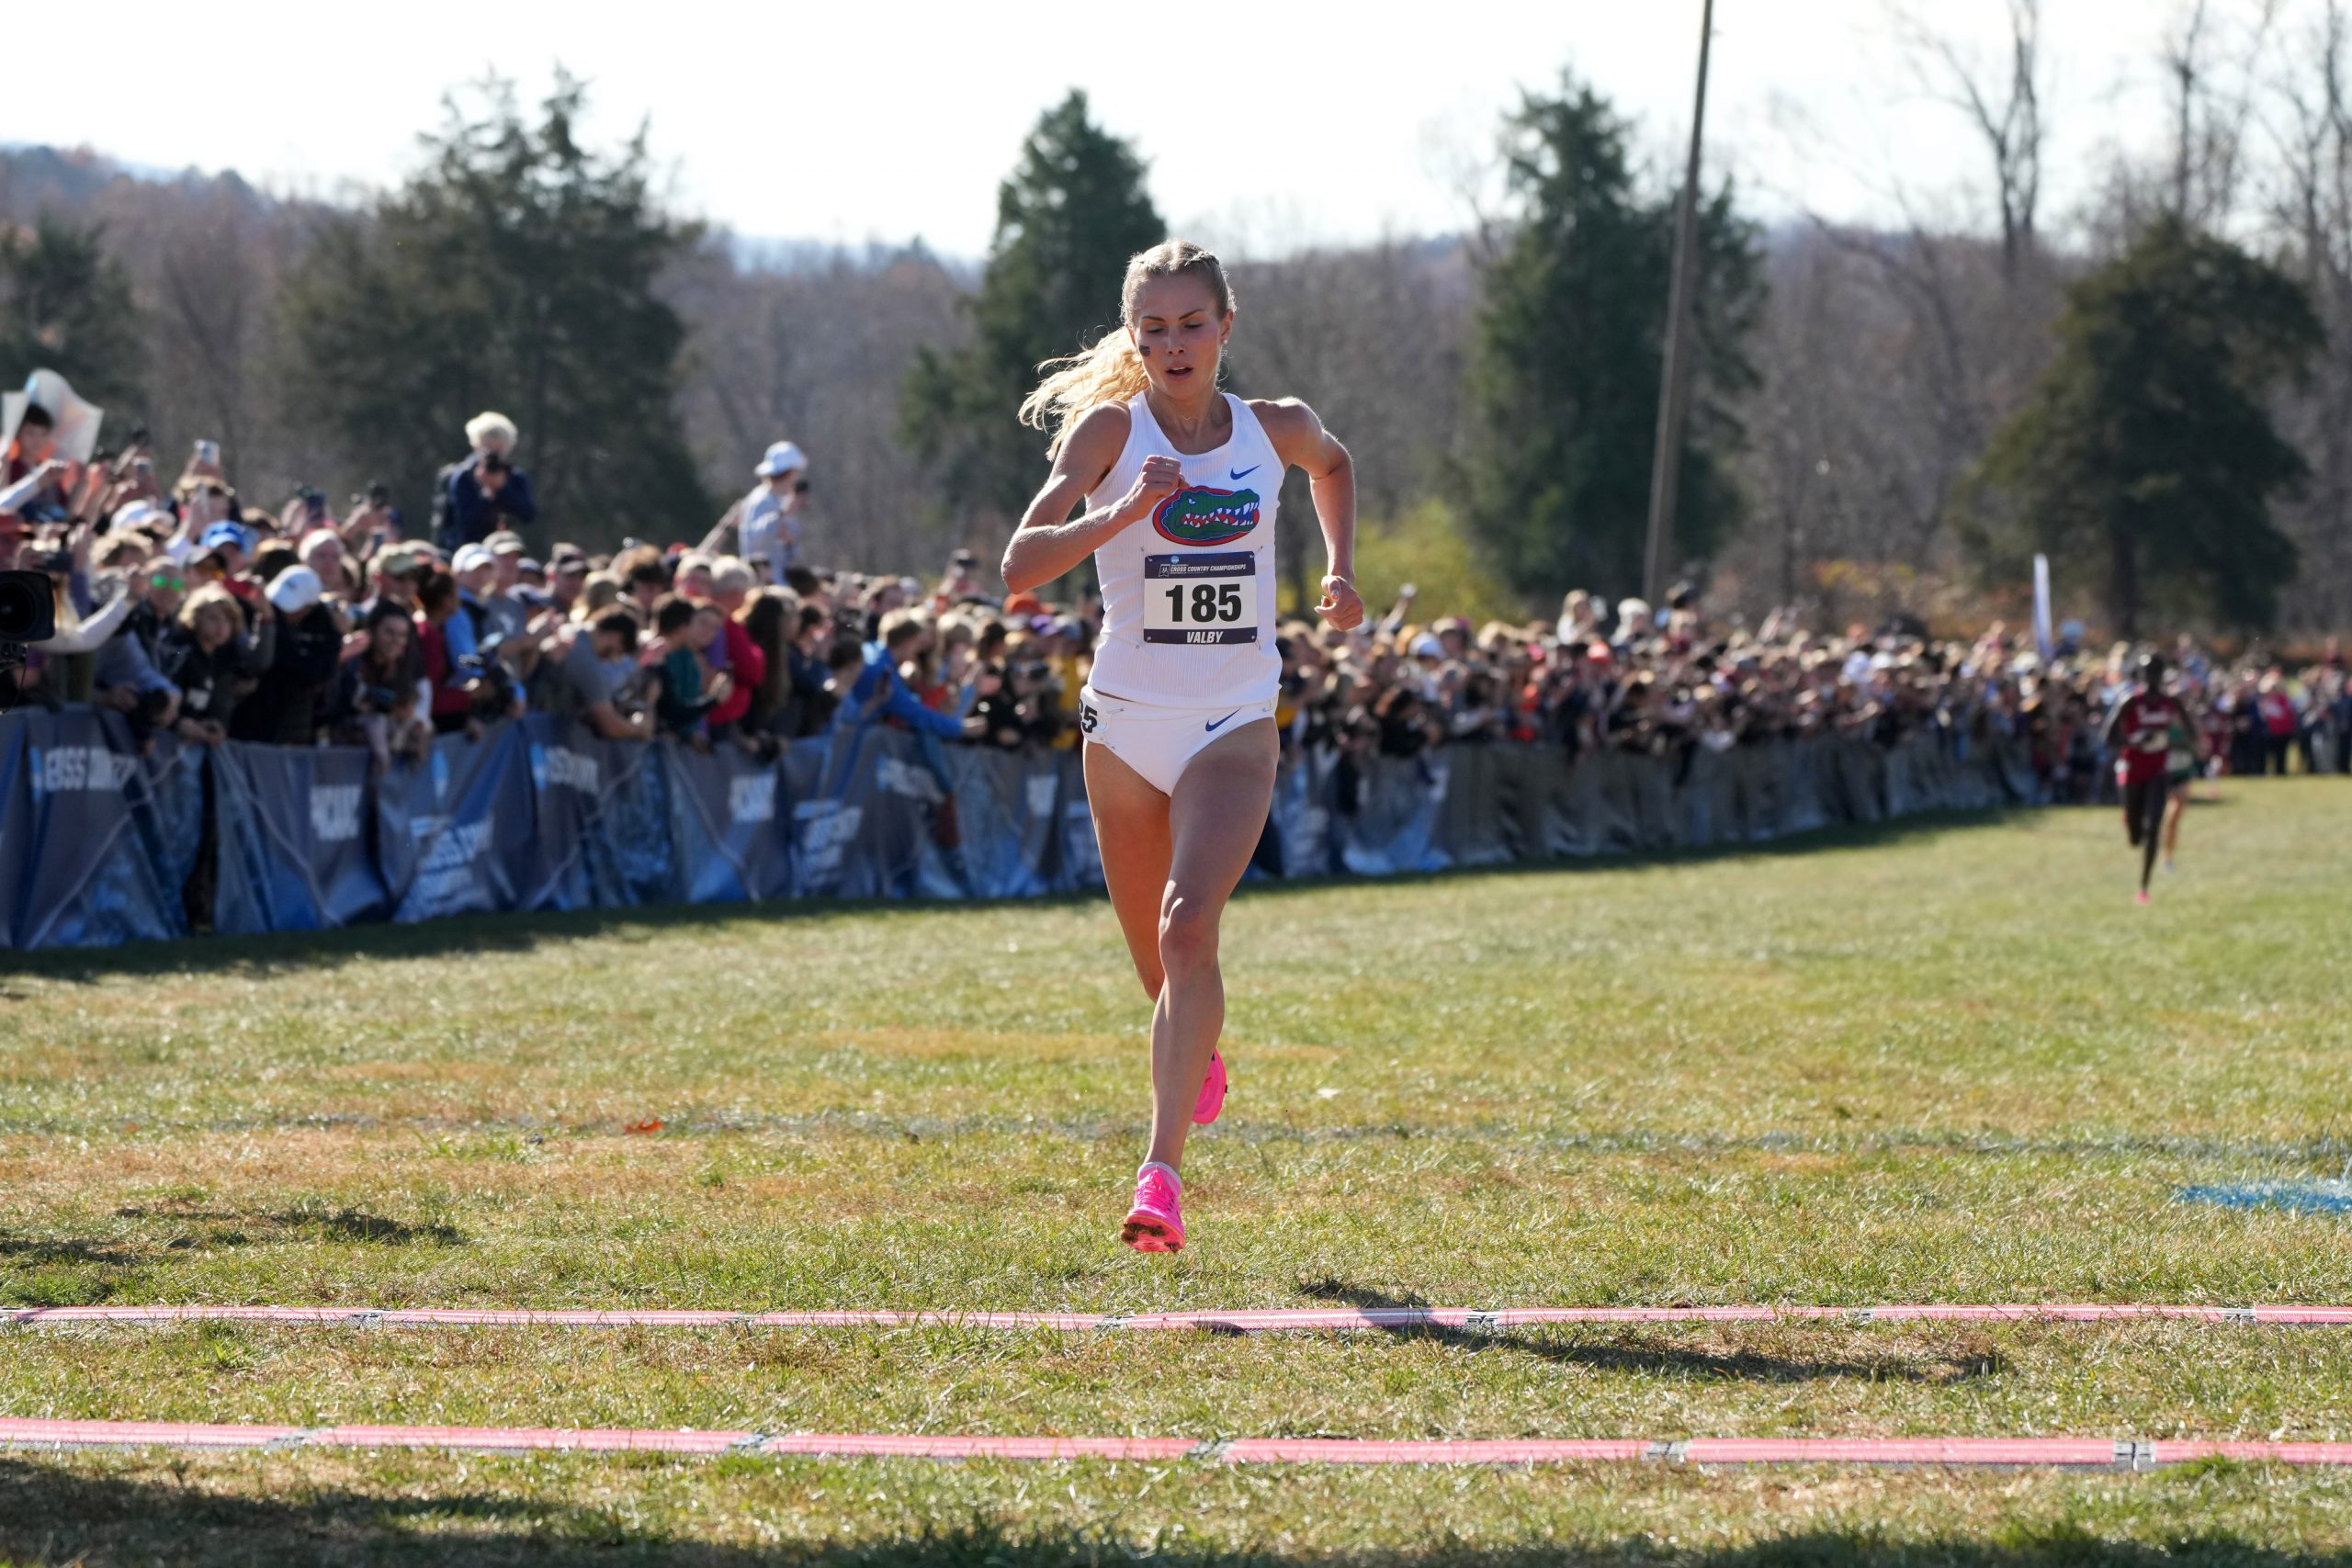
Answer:
M2124 176L2119 174L2119 181ZM2129 230L2119 183L2114 233ZM353 193L360 200L360 193ZM386 480L421 501L433 465L360 473L292 397L275 313L278 284L320 223L318 200L259 190L238 174L127 169L89 150L0 150L0 223L42 214L94 223L129 273L146 341L146 418L167 465L216 437L240 487L278 505L296 484L334 498ZM2352 221L2352 219L2347 219ZM1484 268L1508 228L1357 249L1237 261L1232 383L1312 402L1350 442L1369 524L1416 520L1397 559L1432 552L1461 581L1486 581L1458 522L1470 442L1463 371ZM2039 240L2023 261L1997 235L1867 233L1818 221L1759 235L1766 303L1750 341L1757 386L1729 416L1743 524L1693 569L1717 599L1762 616L1799 604L1823 618L1907 609L1947 625L2020 607L2023 585L1987 592L1964 571L1955 496L2051 353L2065 284L2100 259ZM2324 235L2307 256L2324 256ZM946 512L936 482L901 442L901 388L922 348L969 339L978 268L922 247L830 247L708 233L661 292L687 322L677 416L713 498L741 494L781 437L811 454L811 548L875 569L929 571L948 548L993 550L1009 520ZM2279 508L2303 569L2281 630L2352 628L2352 357L2340 322L2352 287L2312 263L2331 324L2326 364L2284 400L2281 428L2310 456L2312 482ZM1112 324L1115 280L1103 289ZM1077 343L1073 343L1077 348ZM0 378L24 367L0 364ZM348 374L369 374L365 364ZM1007 409L1011 418L1011 409ZM529 430L522 447L529 461ZM1303 503L1298 491L1294 501ZM1428 527L1423 527L1428 524ZM555 520L560 531L560 520ZM1437 534L1428 534L1437 529ZM1310 529L1287 529L1287 576L1305 571ZM1378 574L1374 574L1378 576ZM1628 590L1630 585L1597 585ZM2070 597L2074 590L2074 597ZM2060 581L2060 614L2089 588ZM1545 609L1529 604L1529 609Z

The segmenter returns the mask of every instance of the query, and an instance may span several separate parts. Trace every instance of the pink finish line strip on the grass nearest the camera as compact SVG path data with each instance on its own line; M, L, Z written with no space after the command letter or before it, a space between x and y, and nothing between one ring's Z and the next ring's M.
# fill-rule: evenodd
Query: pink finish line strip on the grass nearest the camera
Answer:
M2145 1472L2192 1460L2352 1467L2352 1443L2199 1443L2065 1436L1905 1439L1489 1439L1381 1441L1341 1436L920 1436L889 1432L633 1432L579 1427L263 1427L146 1420L7 1420L0 1448L294 1448L437 1453L762 1453L821 1460L1115 1460L1169 1465L1987 1465Z

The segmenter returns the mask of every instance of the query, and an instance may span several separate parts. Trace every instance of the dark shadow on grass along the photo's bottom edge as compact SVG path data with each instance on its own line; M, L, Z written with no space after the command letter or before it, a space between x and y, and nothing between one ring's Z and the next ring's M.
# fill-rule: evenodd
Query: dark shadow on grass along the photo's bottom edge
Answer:
M463 1476L463 1472L459 1472ZM412 1483L421 1486L421 1483ZM1705 1481L1700 1481L1705 1486ZM821 1526L818 1526L821 1528ZM1534 1530L1529 1530L1534 1535ZM275 1497L198 1490L181 1479L103 1476L35 1460L0 1460L0 1561L106 1568L111 1563L405 1563L433 1568L1103 1568L1157 1561L1176 1568L1536 1568L1538 1563L1675 1561L1684 1568L2352 1568L2345 1552L2300 1552L2206 1530L2161 1544L2107 1540L2079 1526L2004 1526L1994 1540L1804 1530L1773 1540L1661 1554L1653 1535L1472 1547L1461 1540L1357 1552L1216 1552L1110 1530L1035 1533L985 1516L913 1535L786 1547L729 1547L649 1535L623 1512L501 1495L480 1481L454 1490L355 1493L299 1488Z

